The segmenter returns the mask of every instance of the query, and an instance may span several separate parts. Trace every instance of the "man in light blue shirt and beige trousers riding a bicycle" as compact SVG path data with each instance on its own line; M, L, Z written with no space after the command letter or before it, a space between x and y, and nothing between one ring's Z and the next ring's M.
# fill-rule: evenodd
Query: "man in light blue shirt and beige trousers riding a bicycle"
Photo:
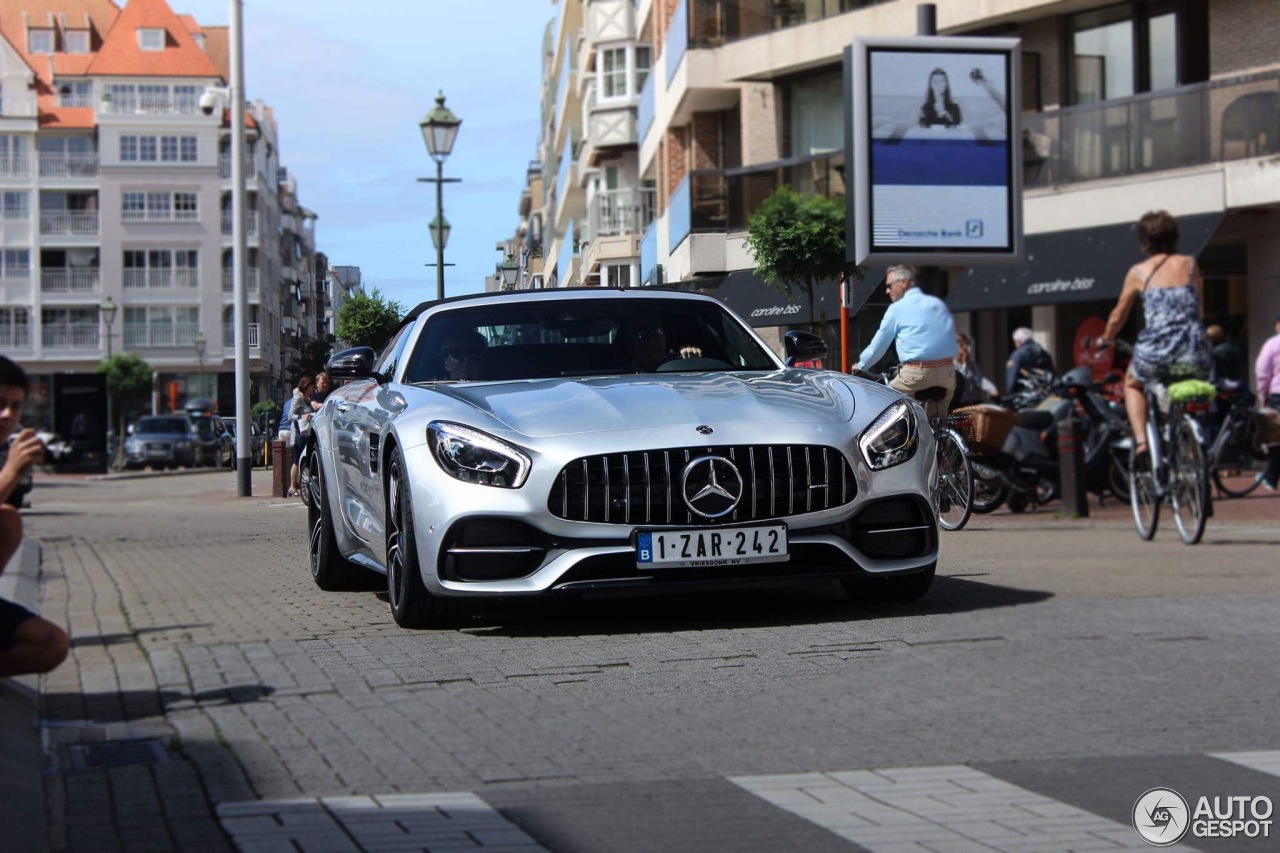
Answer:
M854 370L873 368L895 343L901 364L890 384L913 397L927 388L945 388L942 398L950 400L956 387L957 352L951 311L942 300L915 286L914 266L890 266L884 284L893 304Z

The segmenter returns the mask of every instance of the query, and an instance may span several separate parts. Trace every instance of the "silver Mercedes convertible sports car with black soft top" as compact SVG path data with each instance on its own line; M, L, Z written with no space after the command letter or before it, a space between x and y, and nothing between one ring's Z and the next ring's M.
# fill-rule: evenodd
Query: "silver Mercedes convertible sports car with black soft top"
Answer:
M426 302L360 347L305 460L311 571L387 575L399 625L468 599L838 579L933 581L934 453L919 405L787 360L719 301L552 289Z

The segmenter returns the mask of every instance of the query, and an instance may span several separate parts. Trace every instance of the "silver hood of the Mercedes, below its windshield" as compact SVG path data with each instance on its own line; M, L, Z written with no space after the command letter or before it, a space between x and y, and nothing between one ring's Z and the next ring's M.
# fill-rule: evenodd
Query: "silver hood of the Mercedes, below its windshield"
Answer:
M529 437L681 425L844 424L854 394L813 370L716 373L436 386Z

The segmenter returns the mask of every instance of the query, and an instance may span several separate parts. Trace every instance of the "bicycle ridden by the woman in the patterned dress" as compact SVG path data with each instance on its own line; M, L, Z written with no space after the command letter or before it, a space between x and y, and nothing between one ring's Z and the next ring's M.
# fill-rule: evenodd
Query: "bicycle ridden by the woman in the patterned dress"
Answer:
M1208 411L1212 386L1198 379L1167 387L1152 382L1146 394L1147 452L1139 456L1135 443L1129 460L1133 520L1138 535L1149 542L1160 525L1160 505L1167 498L1179 538L1196 544L1204 535L1210 501L1208 465L1196 416Z

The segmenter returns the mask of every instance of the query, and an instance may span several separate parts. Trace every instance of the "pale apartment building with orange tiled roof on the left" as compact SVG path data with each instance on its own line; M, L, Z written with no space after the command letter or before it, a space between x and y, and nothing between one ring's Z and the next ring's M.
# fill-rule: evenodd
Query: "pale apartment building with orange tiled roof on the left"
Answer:
M156 409L234 409L229 113L198 108L228 77L227 28L164 0L0 5L0 351L32 375L31 423L100 447L95 371L122 351L155 369ZM246 124L259 400L283 375L279 140L261 101Z

